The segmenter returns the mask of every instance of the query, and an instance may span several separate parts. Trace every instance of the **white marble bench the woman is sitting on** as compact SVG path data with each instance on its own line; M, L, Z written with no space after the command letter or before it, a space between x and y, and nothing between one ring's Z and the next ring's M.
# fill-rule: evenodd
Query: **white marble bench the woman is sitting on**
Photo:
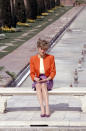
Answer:
M86 112L86 88L85 87L60 87L54 88L48 92L49 95L67 95L78 98L81 102L81 109ZM7 100L12 96L19 95L36 95L36 91L29 88L21 87L6 87L0 88L0 113L5 113Z

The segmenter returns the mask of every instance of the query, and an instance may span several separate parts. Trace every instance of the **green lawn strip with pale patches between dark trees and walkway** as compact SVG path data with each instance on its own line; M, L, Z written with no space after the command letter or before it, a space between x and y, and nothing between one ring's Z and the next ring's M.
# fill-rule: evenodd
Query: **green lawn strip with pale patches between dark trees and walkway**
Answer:
M30 27L17 26L20 31L4 33L6 39L0 40L0 58L8 55L10 52L21 46L24 42L42 31L46 26L53 23L71 8L72 7L57 7L54 12L49 13L42 19L36 19L34 23L30 23Z

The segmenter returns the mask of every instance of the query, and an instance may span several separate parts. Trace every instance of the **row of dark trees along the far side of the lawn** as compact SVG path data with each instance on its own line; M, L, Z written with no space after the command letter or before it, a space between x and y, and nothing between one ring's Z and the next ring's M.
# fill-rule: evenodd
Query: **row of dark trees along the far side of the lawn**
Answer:
M60 5L60 0L0 0L0 25L16 27L18 21L36 19L55 5Z

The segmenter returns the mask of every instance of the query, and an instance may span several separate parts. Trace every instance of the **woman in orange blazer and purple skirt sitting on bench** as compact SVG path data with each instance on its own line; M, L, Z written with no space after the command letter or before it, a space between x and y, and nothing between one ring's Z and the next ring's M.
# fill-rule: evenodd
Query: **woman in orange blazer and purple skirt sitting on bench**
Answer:
M49 117L48 90L53 87L53 78L56 74L54 56L46 53L49 43L46 40L37 41L38 54L30 58L30 76L32 87L36 89L41 107L41 117ZM44 107L45 104L45 107Z

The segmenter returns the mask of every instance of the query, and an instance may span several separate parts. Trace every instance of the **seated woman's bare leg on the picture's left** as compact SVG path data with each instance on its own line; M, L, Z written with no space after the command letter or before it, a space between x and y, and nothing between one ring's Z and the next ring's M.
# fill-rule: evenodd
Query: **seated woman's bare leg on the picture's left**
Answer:
M45 114L41 84L36 84L37 97L41 107L41 114Z

